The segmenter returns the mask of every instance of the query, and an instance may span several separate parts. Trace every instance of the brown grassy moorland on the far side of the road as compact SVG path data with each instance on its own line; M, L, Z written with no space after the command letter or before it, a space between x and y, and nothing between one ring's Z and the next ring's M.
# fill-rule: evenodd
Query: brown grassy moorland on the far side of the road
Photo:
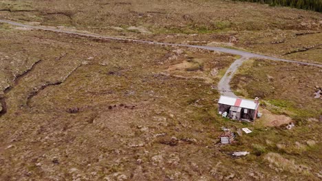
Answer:
M230 45L283 58L321 62L321 47L282 56L321 43L322 16L318 12L221 0L0 3L0 9L21 7L28 10L32 7L34 12L3 11L0 18L164 42Z

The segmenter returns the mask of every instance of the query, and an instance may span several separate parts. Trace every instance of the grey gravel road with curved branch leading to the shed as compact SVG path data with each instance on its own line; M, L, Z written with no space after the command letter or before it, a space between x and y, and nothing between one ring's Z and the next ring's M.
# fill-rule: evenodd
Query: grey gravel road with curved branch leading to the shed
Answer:
M31 29L41 29L44 31L50 31L50 32L57 32L57 33L63 33L63 34L72 34L77 36L85 36L89 38L102 38L102 39L109 39L109 40L127 40L129 42L134 43L148 43L151 45L166 45L166 46L177 46L177 47L193 47L198 49L207 49L210 51L219 51L223 53L230 53L233 55L241 56L241 58L235 60L233 64L230 65L228 70L226 71L225 75L222 77L222 79L219 81L218 84L218 90L222 95L227 95L230 97L237 97L231 90L230 90L230 80L232 79L234 73L237 71L237 69L243 64L244 61L246 61L248 58L263 58L267 60L273 60L273 61L280 61L280 62L290 62L290 63L296 63L296 64L304 64L314 67L321 67L322 64L316 64L316 63L310 63L310 62L301 62L296 60L287 60L283 58L276 58L272 56L264 56L258 53L250 53L248 51L241 51L237 49L229 49L225 47L210 47L210 46L203 46L203 45L184 45L184 44L175 44L175 43L159 43L159 42L153 42L148 40L134 40L129 38L117 38L112 36L101 36L98 34L89 34L89 33L80 33L80 32L72 32L68 30L63 29L55 29L51 27L41 27L41 26L33 26L33 25L25 25L23 23L18 23L14 21L8 21L8 20L0 20L0 23L8 23L10 25L19 26L19 27L28 27Z

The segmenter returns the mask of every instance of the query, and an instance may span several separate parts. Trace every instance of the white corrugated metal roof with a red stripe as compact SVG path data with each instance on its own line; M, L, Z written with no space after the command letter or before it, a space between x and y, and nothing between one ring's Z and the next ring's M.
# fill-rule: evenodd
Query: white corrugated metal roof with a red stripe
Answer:
M219 104L226 104L229 106L237 106L237 107L241 107L241 108L247 108L247 109L251 109L251 110L256 110L258 104L255 103L255 101L253 100L248 100L248 99L239 99L236 97L228 97L228 96L220 96Z

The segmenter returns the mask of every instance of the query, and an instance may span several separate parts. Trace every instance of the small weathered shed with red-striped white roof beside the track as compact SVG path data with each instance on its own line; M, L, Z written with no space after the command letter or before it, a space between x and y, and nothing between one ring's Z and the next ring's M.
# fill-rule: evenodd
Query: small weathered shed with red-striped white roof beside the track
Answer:
M240 121L254 121L259 114L259 99L239 99L237 97L220 96L218 112L229 119ZM225 113L226 112L226 113Z

